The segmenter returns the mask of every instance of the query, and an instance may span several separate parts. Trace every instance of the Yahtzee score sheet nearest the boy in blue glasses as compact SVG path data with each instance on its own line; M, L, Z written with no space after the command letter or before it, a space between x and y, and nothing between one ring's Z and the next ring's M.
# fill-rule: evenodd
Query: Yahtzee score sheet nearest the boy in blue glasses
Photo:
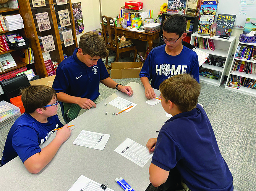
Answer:
M109 137L110 135L108 134L82 130L73 144L103 151Z

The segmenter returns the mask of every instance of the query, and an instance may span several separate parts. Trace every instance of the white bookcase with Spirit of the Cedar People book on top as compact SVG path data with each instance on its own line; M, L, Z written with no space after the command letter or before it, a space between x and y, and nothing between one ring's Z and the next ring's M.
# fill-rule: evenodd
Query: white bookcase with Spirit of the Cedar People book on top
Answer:
M209 36L198 35L198 32L195 32L191 35L191 40L190 40L191 45L194 45L195 37L210 38ZM227 71L228 61L230 60L230 56L232 54L232 49L235 44L236 37L231 36L229 39L224 39L224 38L219 38L218 36L214 36L214 37L211 37L210 39L214 41L214 45L215 45L214 51L208 50L208 49L201 49L201 48L196 48L196 49L199 49L207 54L211 54L214 56L214 58L220 57L222 59L225 59L226 60L225 65L224 65L224 68L214 66L214 65L209 65L209 64L202 65L202 68L207 68L210 70L214 70L216 73L220 73L220 77L218 80L206 78L204 76L199 76L199 77L200 77L200 81L203 81L204 83L212 84L214 86L220 86L224 80L224 76Z

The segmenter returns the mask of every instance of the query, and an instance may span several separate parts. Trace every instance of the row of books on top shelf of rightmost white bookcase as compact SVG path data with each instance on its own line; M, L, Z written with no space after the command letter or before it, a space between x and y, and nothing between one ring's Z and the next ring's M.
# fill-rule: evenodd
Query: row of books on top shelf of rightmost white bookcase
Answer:
M256 60L256 46L250 45L239 45L237 47L237 52L235 53L235 58Z

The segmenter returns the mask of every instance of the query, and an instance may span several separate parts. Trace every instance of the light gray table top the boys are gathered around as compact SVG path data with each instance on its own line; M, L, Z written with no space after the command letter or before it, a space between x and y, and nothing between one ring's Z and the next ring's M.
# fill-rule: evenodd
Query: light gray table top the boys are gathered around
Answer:
M131 82L127 84L133 88L134 94L128 95L117 91L107 99L91 108L83 115L74 119L70 138L60 147L51 162L38 174L31 174L26 170L19 157L0 168L1 190L68 190L84 175L98 183L107 181L109 188L121 191L115 178L123 177L136 191L143 191L149 185L149 165L151 159L142 168L134 162L121 156L114 150L128 137L146 146L149 138L157 137L157 130L167 121L161 104L151 106L146 103L144 87ZM158 90L155 90L160 95ZM110 104L116 97L122 97L138 104L129 112L112 115L120 110ZM105 115L105 112L108 115ZM72 144L82 130L110 134L103 151ZM41 148L50 143L55 137L53 133Z

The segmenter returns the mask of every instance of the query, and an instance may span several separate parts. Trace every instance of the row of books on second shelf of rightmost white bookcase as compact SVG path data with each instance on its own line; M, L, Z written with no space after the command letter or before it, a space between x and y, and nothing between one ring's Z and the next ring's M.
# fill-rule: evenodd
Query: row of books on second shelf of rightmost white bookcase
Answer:
M256 74L256 64L242 60L235 60L233 71L245 72L246 74Z

